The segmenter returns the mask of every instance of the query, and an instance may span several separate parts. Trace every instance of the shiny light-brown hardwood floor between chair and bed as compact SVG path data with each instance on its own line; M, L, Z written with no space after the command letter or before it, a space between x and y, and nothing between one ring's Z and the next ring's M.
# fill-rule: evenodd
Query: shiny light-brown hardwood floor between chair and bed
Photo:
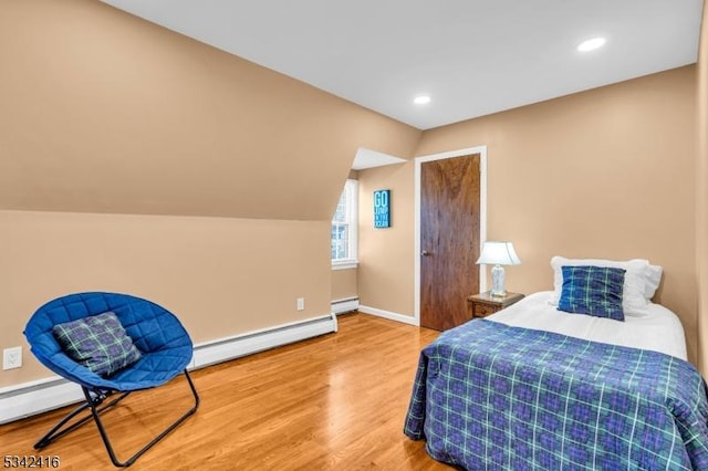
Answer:
M449 470L403 435L420 348L438 333L365 314L340 332L192 371L199 410L135 470ZM106 412L118 459L189 407L184 378ZM40 452L72 408L0 426L3 454L58 456L61 469L114 469L94 423Z

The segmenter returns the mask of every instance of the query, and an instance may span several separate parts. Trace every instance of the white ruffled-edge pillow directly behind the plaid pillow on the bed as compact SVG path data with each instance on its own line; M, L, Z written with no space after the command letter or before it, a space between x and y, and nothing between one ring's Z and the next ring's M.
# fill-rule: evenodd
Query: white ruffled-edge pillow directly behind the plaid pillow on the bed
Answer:
M561 291L563 290L562 266L587 265L624 269L624 286L622 292L622 308L624 314L642 316L649 313L649 306L646 297L646 294L650 291L650 287L646 287L646 284L648 284L646 272L649 266L649 261L642 259L617 262L613 260L566 259L564 257L553 257L551 259L551 266L553 268L554 292L550 301L551 304L558 305L558 301L561 299Z

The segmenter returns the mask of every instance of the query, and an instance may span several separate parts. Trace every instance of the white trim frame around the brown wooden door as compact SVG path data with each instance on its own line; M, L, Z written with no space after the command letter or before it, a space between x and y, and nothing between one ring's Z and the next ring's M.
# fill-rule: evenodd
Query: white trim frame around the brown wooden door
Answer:
M420 168L424 163L479 154L479 253L487 240L487 146L416 157L414 176L414 324L420 325ZM479 292L487 291L487 272L479 265ZM469 293L476 294L476 293Z

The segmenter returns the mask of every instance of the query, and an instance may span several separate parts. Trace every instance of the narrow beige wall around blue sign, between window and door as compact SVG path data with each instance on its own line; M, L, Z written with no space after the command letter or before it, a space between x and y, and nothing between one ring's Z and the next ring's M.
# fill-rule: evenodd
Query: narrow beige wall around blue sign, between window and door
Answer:
M414 166L413 161L358 172L360 304L414 315ZM374 229L373 192L391 190L391 223Z

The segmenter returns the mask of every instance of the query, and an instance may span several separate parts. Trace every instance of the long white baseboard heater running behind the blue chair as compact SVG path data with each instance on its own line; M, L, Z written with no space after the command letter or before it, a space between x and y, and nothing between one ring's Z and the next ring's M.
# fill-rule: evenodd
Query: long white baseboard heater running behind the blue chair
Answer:
M189 369L204 368L229 359L304 341L337 331L334 314L249 332L195 345ZM82 401L81 387L60 376L0 389L0 423Z

